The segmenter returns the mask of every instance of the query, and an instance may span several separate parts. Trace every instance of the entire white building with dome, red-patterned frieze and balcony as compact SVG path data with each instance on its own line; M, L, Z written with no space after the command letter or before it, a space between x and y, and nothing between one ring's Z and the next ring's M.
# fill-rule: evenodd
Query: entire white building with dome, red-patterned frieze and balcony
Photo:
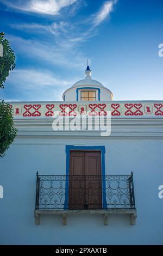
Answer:
M113 101L85 74L63 101L10 102L18 133L0 162L1 244L162 244L163 101ZM102 136L95 123L108 115Z

